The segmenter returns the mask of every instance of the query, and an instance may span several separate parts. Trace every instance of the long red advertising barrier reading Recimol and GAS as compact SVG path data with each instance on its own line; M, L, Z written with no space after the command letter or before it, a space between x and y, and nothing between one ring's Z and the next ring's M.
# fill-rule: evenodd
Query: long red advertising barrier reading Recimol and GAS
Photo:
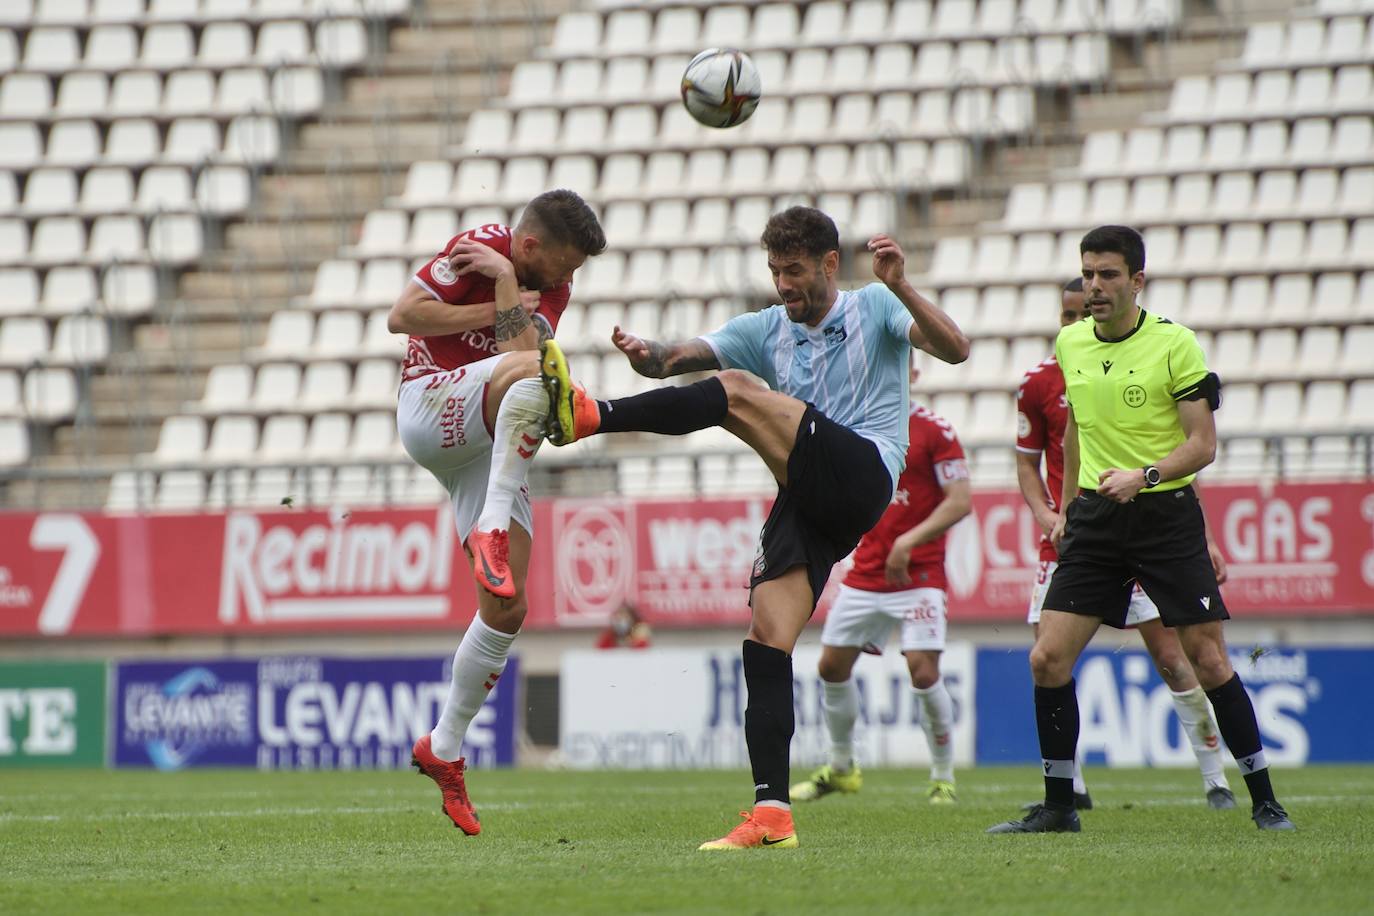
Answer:
M1234 614L1374 614L1374 485L1212 485L1205 501ZM596 626L621 602L655 626L742 623L767 514L765 499L540 501L526 626ZM7 636L455 629L475 607L448 507L3 519ZM949 538L954 619L1022 619L1037 537L1018 493L977 493Z

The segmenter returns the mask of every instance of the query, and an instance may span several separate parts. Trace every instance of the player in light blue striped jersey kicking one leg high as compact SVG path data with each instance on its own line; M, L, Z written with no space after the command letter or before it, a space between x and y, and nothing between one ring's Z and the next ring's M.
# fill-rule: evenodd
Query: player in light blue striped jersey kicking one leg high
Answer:
M598 433L684 435L721 426L757 452L778 481L749 580L753 619L743 645L754 809L701 849L797 846L787 759L793 647L831 566L892 500L907 450L911 347L947 363L969 357L959 327L907 280L905 255L892 238L868 240L879 283L860 290L838 288L840 233L820 210L774 214L763 246L780 305L736 316L684 343L644 341L618 327L611 334L640 375L725 369L719 375L595 401L572 382L558 345L541 346L554 445Z

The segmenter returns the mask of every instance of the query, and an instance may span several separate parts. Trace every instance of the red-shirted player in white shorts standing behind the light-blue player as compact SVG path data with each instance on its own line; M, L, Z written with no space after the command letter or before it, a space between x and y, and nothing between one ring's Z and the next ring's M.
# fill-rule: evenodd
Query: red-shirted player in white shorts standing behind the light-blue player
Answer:
M911 374L912 382L916 372ZM907 467L892 504L855 548L855 564L820 633L830 762L791 787L793 801L855 792L863 772L855 762L859 688L851 674L859 654L878 654L901 625L901 654L921 703L930 744L932 803L955 801L954 703L940 678L945 641L945 531L971 509L969 464L954 427L923 407L911 411Z

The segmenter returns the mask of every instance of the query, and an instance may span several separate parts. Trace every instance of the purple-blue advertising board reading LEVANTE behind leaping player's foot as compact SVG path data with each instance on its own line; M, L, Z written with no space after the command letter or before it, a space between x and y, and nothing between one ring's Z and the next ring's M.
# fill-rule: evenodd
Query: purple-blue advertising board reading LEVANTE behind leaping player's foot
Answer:
M396 769L438 720L448 658L128 662L115 666L115 766ZM514 762L511 659L463 747L469 766Z

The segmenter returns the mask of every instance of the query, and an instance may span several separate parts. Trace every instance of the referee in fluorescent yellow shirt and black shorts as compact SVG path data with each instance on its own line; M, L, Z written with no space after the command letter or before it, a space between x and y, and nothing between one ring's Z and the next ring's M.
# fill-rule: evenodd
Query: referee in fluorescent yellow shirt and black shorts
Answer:
M1079 246L1091 319L1059 332L1069 420L1063 431L1059 548L1030 650L1044 803L989 834L1077 832L1073 666L1098 626L1123 628L1136 581L1178 629L1217 728L1241 766L1260 829L1293 829L1274 798L1254 707L1221 636L1230 614L1206 549L1193 477L1216 457L1220 382L1193 331L1150 314L1145 242L1131 228L1092 229ZM1052 608L1052 610L1051 610Z

